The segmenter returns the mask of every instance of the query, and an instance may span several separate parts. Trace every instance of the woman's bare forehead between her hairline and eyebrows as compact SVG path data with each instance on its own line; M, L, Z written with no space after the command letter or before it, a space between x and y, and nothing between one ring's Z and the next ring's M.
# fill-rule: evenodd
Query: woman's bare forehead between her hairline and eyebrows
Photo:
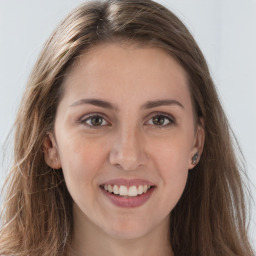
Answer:
M190 101L181 65L160 48L136 44L104 43L84 52L65 76L63 86L64 96L70 98L91 96L118 101L132 97L135 104L147 97L169 95Z

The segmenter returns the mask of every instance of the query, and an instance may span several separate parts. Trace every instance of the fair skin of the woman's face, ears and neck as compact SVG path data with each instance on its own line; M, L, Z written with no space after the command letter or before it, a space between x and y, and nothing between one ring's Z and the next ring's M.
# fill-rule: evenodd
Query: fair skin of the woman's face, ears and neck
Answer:
M63 86L45 160L62 168L74 201L71 255L173 255L169 214L204 143L185 71L161 49L108 43L81 55ZM114 108L81 102L88 98ZM142 107L166 99L175 102ZM91 113L103 117L99 126L92 126ZM153 121L159 115L161 125ZM142 206L122 208L99 188L115 178L146 179L156 187Z

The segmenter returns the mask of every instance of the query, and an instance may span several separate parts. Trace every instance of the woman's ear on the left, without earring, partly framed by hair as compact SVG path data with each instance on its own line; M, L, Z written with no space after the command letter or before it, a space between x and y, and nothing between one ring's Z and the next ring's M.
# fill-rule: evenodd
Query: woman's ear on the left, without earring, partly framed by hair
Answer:
M55 136L52 132L47 133L44 143L44 160L53 169L60 169L61 162L58 154L58 147Z

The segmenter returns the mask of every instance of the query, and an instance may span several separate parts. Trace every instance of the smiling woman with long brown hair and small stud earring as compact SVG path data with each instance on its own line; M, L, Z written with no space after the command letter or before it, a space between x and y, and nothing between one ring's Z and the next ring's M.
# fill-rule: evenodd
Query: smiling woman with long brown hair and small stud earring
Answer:
M0 255L253 255L227 119L163 6L73 11L15 125Z

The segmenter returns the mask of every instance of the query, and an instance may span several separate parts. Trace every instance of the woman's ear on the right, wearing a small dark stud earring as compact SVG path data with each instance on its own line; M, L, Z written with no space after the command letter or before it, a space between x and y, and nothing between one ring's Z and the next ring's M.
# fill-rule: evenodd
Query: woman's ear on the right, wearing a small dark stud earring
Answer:
M200 157L202 155L203 148L204 148L204 140L205 140L204 121L202 118L200 118L197 124L193 147L191 149L190 157L188 160L189 169L193 169L197 165L197 163L200 161Z

